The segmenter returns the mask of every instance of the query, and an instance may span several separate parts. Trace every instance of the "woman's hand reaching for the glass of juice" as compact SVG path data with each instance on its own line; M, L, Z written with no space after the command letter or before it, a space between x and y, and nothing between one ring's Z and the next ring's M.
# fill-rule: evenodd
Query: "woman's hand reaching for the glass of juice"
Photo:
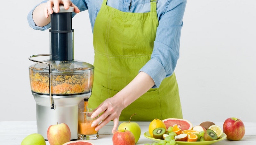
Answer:
M103 101L99 107L97 107L96 111L92 114L92 118L95 118L99 114L101 114L95 121L92 122L92 127L101 123L95 128L96 131L100 130L103 126L105 126L109 121L113 120L114 127L112 129L112 133L116 131L118 127L119 116L124 109L122 105L122 99L117 96L111 97Z

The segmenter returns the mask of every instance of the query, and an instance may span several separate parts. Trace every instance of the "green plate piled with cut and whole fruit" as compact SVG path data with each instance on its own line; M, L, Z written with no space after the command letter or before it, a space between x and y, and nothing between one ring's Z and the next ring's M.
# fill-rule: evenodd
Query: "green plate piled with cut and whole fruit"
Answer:
M205 121L193 127L190 121L177 118L154 119L144 136L159 145L210 145L227 138L214 122Z

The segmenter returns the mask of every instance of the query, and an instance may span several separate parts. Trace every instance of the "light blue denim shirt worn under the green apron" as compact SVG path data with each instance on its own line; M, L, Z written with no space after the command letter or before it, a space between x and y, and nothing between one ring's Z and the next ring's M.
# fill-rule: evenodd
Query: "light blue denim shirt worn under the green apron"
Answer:
M103 0L71 1L80 11L88 10L93 32L94 22ZM154 80L155 86L153 88L159 87L162 80L171 76L176 67L180 55L180 33L186 3L186 0L157 0L156 12L159 25L156 31L154 49L151 59L140 69ZM150 0L108 0L107 5L124 12L144 13L150 11ZM28 13L29 25L35 30L49 29L50 24L38 27L33 21L32 13L36 6ZM73 16L75 15L73 13Z

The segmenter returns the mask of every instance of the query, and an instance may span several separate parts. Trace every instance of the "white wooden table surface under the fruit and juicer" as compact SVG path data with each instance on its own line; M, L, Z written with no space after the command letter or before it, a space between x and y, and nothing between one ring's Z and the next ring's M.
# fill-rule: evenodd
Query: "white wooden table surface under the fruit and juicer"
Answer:
M122 122L119 122L122 123ZM140 139L137 145L153 143L153 141L144 137L148 131L150 122L137 122L141 128ZM200 122L192 122L193 126ZM215 122L222 128L223 122ZM214 143L213 145L256 145L256 122L244 122L245 136L240 141L229 141L227 139ZM91 140L95 145L112 145L111 133L113 122L108 123L100 129L100 137L97 140ZM20 145L21 141L29 134L37 133L36 121L1 121L0 122L0 145ZM46 141L49 145L49 142Z

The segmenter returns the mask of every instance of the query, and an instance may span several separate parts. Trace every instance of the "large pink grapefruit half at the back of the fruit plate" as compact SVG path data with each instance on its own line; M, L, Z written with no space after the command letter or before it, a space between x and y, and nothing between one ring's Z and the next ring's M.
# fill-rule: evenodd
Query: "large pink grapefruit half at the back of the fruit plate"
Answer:
M185 119L178 119L178 118L167 118L163 120L166 128L169 128L170 126L178 125L178 127L183 130L192 129L192 123Z

